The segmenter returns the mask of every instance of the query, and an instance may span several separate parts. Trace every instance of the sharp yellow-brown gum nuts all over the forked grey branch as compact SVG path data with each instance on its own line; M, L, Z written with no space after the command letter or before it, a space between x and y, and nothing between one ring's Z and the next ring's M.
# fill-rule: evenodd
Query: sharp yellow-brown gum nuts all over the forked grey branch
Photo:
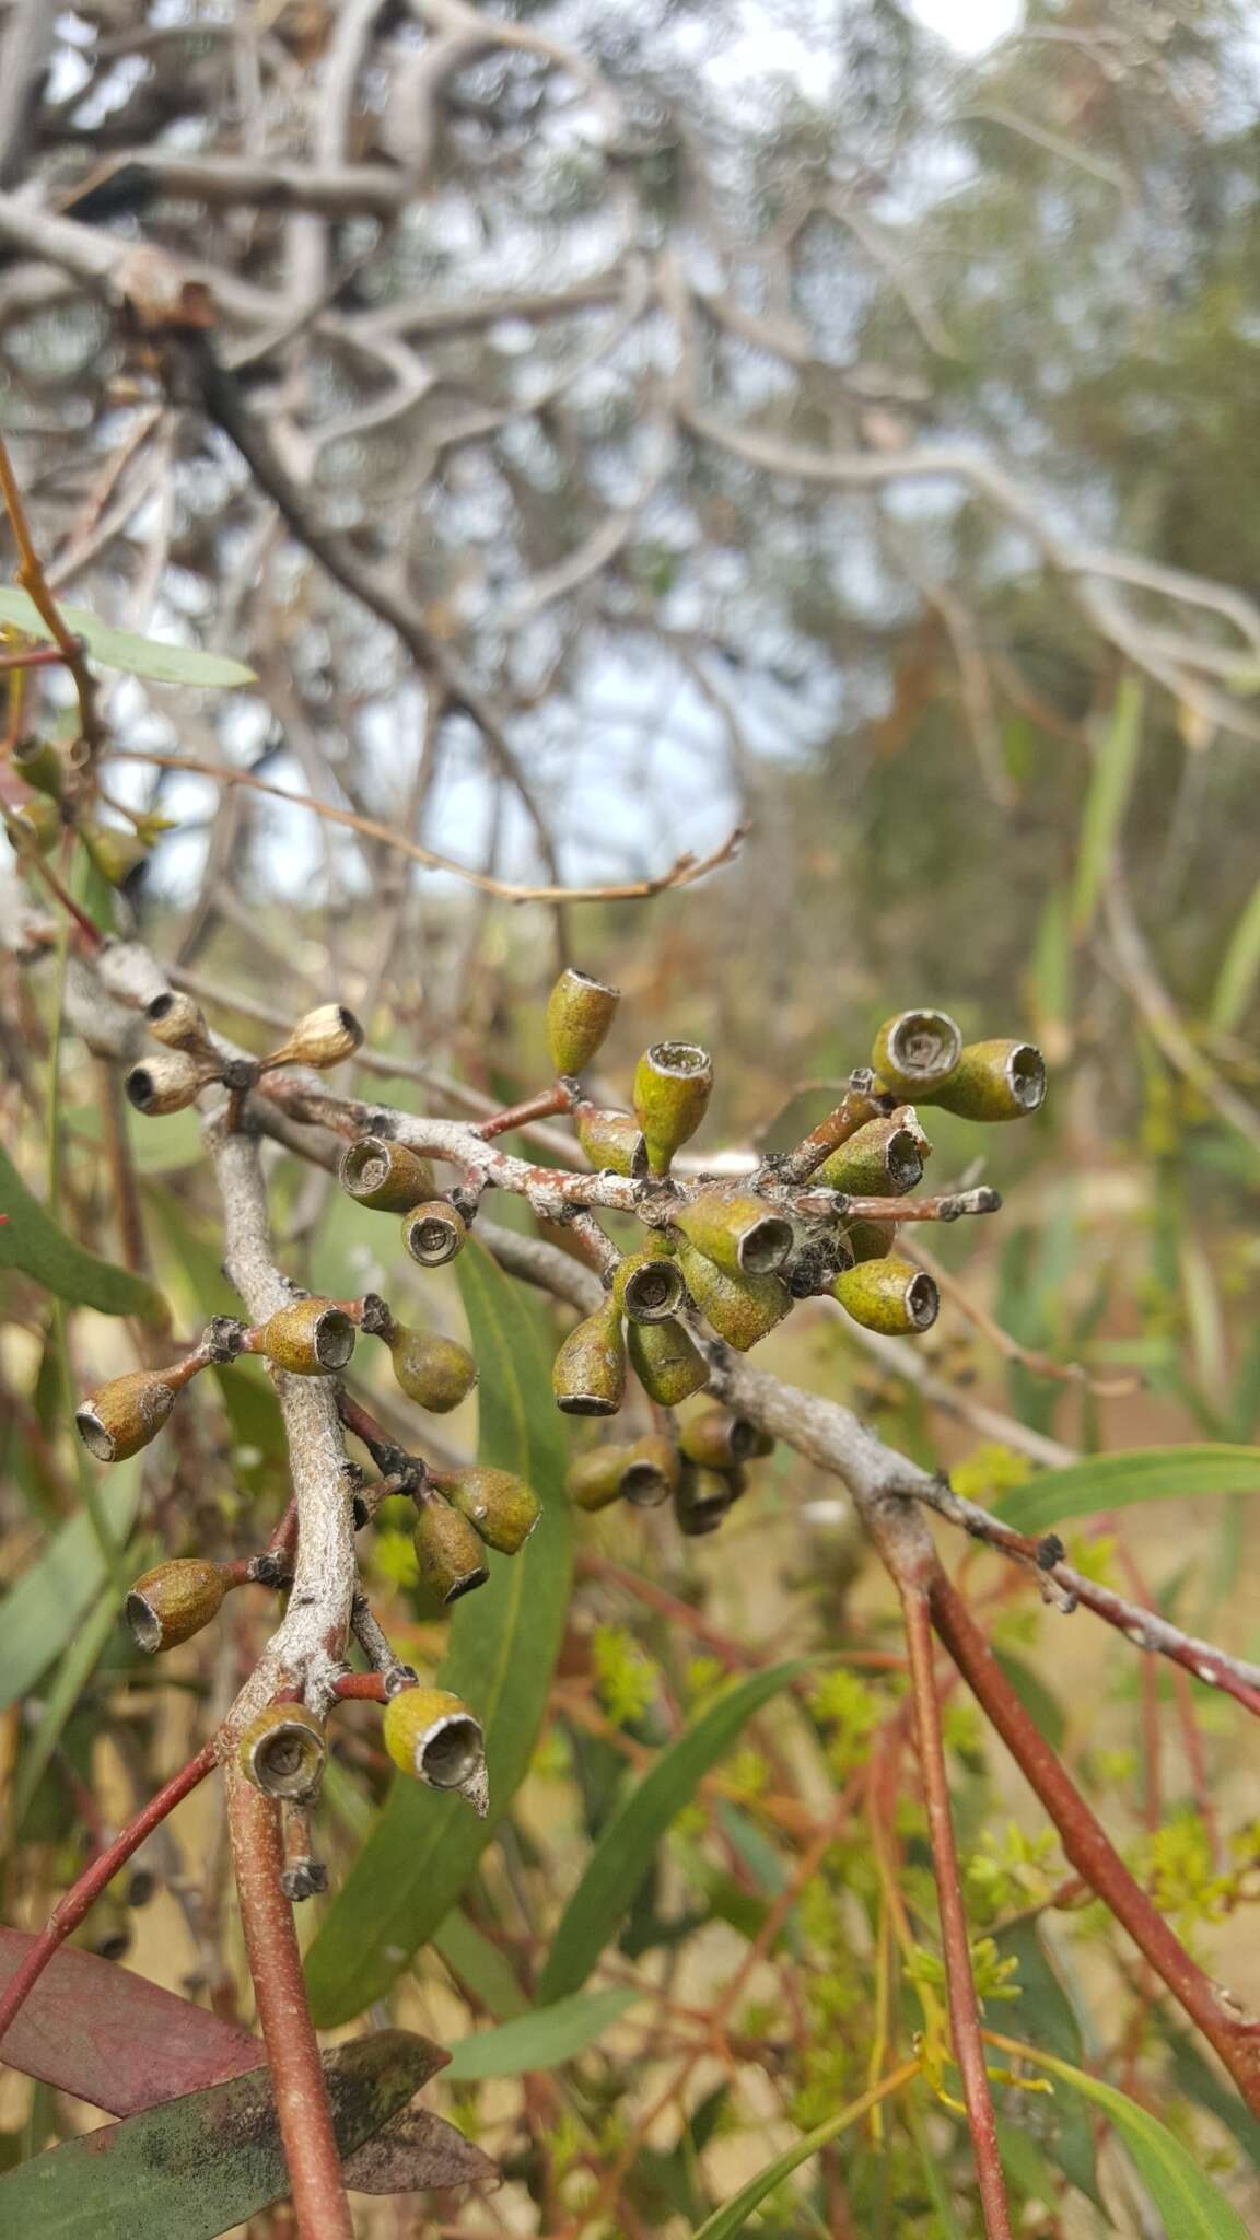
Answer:
M708 1107L708 1053L697 1044L655 1044L639 1060L632 1111L596 1107L583 1093L581 1073L603 1046L617 1006L614 988L576 970L563 972L547 1004L547 1042L576 1138L596 1172L634 1185L646 1243L619 1254L603 1239L608 1297L565 1337L552 1384L565 1413L605 1418L621 1409L632 1366L657 1429L583 1454L569 1472L569 1494L583 1510L673 1499L682 1530L702 1534L722 1523L744 1490L747 1465L773 1443L724 1409L675 1418L673 1411L702 1393L711 1375L704 1342L684 1317L704 1317L720 1340L747 1351L796 1299L830 1292L856 1322L886 1335L928 1328L937 1288L890 1250L895 1221L845 1221L847 1205L899 1198L917 1187L930 1142L915 1104L982 1122L1018 1120L1043 1102L1045 1066L1031 1044L964 1044L944 1012L901 1012L879 1030L872 1068L861 1080L859 1111L870 1118L850 1124L825 1156L805 1160L796 1174L791 1158L767 1158L753 1180L704 1174L679 1180L675 1156ZM339 1064L363 1039L354 1015L327 1004L242 1071L240 1062L224 1060L188 997L159 997L150 1006L150 1028L166 1053L135 1066L126 1084L137 1109L148 1113L179 1111L211 1082L247 1089L276 1066ZM356 1138L343 1156L341 1183L365 1207L401 1212L404 1243L421 1266L444 1266L462 1250L473 1207L439 1196L428 1160L406 1145L381 1133ZM217 1317L200 1346L170 1369L114 1378L78 1409L78 1434L99 1460L123 1460L157 1436L179 1389L211 1362L260 1353L289 1375L336 1375L359 1333L388 1344L399 1387L424 1409L457 1407L478 1380L464 1346L399 1324L374 1295L356 1301L294 1297L258 1328ZM433 1472L401 1449L395 1460L404 1465L401 1490L417 1503L419 1572L442 1602L484 1584L487 1546L516 1555L538 1521L538 1496L509 1472L480 1465ZM159 1651L186 1642L215 1617L231 1588L249 1581L285 1586L287 1561L265 1552L238 1564L200 1557L159 1564L128 1597L139 1646ZM469 1707L442 1689L419 1687L410 1667L397 1662L386 1667L386 1698L383 1738L395 1763L435 1788L462 1788L480 1801L482 1738ZM318 1788L325 1749L323 1720L314 1711L274 1702L242 1736L240 1761L267 1794L307 1801Z

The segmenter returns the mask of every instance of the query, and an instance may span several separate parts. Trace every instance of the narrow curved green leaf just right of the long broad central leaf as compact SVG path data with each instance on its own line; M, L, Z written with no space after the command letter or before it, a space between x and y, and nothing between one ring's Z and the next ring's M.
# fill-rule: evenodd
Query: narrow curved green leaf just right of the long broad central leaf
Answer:
M731 1747L753 1711L807 1671L809 1658L749 1673L726 1689L630 1792L603 1830L583 1879L565 1906L552 1951L538 1978L540 2005L581 1991L603 1947L617 1935L634 1891L652 1866L657 1844L670 1821L691 1803L704 1774Z

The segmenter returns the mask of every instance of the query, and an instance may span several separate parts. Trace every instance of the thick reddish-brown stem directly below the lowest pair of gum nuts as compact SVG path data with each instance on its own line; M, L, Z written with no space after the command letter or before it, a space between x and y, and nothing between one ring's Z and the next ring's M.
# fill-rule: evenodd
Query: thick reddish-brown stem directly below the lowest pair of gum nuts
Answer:
M280 1888L280 1808L226 1767L231 1850L300 2240L354 2240L294 1908Z

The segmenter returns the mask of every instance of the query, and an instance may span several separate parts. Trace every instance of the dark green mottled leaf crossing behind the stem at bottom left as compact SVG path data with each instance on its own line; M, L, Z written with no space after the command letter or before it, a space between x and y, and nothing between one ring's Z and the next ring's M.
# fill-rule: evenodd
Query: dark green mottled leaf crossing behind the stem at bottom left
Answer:
M442 2065L428 2038L379 2029L325 2054L343 2155ZM22 2240L213 2240L289 2191L267 2070L159 2101L67 2139L0 2180L0 2229Z

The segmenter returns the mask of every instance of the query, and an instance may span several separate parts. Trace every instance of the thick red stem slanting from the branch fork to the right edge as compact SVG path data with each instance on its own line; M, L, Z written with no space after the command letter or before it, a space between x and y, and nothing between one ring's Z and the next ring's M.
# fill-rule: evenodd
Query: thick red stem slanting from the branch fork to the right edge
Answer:
M1195 1967L1164 1915L1157 1913L1146 1891L1132 1879L1103 1823L1090 1810L1081 1790L1025 1711L971 1611L944 1570L937 1568L933 1572L928 1595L933 1624L944 1646L984 1716L1002 1736L1016 1765L1040 1796L1058 1828L1069 1864L1094 1895L1110 1906L1121 1929L1128 1929L1159 1980L1173 1991L1173 1998L1220 2054L1251 2112L1260 2115L1258 2025L1235 2023L1224 2014L1208 1978Z

